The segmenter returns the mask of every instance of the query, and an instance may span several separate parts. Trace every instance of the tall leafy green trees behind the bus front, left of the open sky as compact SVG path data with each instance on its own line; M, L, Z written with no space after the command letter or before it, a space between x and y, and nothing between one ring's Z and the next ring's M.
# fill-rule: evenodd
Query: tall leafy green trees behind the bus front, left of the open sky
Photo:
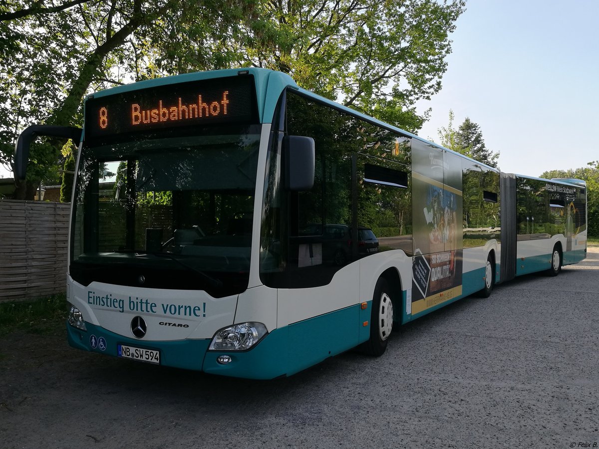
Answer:
M240 65L288 72L302 87L416 131L428 113L416 113L415 102L440 90L464 5L8 0L0 6L0 163L12 165L14 141L28 125L80 126L86 93ZM17 196L56 175L63 143L32 145Z

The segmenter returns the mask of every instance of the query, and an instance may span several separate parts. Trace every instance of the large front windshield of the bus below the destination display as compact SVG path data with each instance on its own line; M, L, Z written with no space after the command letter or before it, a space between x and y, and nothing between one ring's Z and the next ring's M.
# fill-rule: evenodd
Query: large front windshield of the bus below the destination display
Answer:
M85 285L103 281L223 295L247 288L255 128L84 143L73 205L72 277Z

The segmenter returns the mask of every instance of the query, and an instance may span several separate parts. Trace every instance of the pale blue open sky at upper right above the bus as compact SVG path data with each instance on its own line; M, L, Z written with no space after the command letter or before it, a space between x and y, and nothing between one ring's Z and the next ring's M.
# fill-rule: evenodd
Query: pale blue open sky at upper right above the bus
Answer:
M502 171L539 176L599 160L599 1L468 0L451 35L443 89L417 133L465 117Z

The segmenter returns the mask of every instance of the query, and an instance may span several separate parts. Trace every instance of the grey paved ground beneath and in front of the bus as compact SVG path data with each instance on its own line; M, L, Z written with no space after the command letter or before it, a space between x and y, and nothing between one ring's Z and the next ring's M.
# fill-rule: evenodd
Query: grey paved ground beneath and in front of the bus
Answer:
M291 378L244 381L0 338L0 447L599 447L599 250ZM585 446L584 444L588 444Z

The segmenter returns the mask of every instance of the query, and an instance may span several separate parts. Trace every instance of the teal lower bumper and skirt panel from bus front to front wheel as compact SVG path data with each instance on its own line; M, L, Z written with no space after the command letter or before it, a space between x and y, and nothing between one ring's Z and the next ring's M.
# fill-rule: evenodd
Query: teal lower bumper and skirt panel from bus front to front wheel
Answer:
M361 321L365 314L370 317L371 302L368 304L367 310L361 310L361 305L356 304L274 329L254 348L243 352L207 351L210 339L143 341L126 338L90 323L85 323L87 331L69 324L66 330L69 344L81 350L118 356L117 345L125 344L159 350L161 365L165 366L232 377L271 379L295 374L358 345L362 335L370 335L370 320L368 326L363 326ZM91 348L91 335L97 339L104 337L107 348L104 351ZM220 365L216 359L222 354L230 356L232 362Z

